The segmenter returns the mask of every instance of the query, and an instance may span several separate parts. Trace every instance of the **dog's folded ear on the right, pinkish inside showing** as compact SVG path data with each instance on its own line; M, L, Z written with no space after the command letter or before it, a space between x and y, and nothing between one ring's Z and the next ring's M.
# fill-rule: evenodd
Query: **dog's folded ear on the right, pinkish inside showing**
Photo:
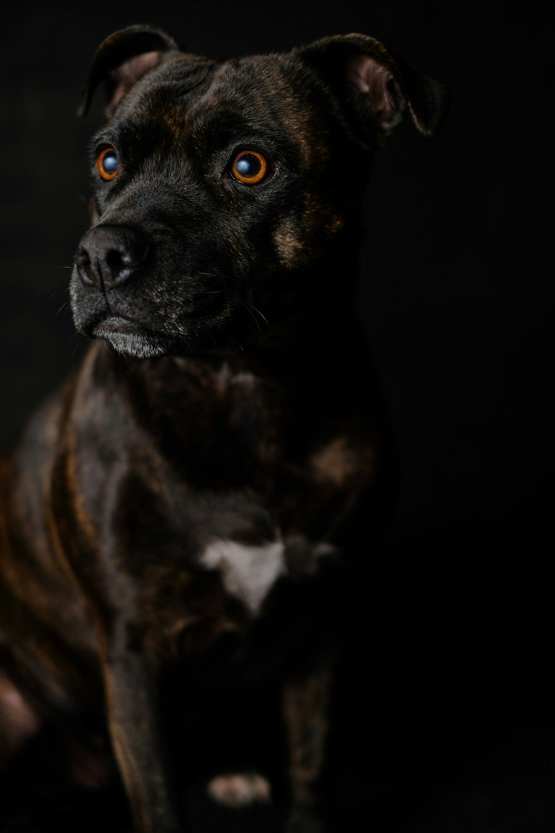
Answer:
M438 132L447 112L448 92L434 78L394 57L374 37L325 37L297 54L334 90L364 144L382 144L406 109L425 136Z

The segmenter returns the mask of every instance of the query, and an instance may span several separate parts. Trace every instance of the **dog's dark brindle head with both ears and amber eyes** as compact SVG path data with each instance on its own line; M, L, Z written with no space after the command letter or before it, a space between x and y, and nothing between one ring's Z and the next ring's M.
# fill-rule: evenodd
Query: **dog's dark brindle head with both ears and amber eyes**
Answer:
M130 27L99 47L82 112L100 82L72 311L137 357L243 344L344 291L372 151L405 111L431 134L446 107L364 35L221 61Z

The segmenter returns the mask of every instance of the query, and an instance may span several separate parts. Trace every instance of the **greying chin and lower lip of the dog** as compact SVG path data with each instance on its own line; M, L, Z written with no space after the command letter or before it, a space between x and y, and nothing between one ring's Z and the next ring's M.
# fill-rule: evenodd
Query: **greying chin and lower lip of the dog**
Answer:
M175 356L186 352L186 344L177 343L175 337L161 332L150 332L133 322L117 317L97 322L85 334L109 342L118 353L140 359Z

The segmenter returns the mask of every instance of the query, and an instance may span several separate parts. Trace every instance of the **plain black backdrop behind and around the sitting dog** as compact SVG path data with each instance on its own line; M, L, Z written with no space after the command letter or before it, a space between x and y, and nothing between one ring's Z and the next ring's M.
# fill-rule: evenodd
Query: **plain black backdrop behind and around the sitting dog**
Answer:
M342 830L362 809L384 831L553 829L553 4L12 4L2 449L85 347L67 281L100 107L74 114L97 44L133 22L222 56L364 32L450 89L440 136L402 125L364 202L359 311L401 488L354 591L336 803Z

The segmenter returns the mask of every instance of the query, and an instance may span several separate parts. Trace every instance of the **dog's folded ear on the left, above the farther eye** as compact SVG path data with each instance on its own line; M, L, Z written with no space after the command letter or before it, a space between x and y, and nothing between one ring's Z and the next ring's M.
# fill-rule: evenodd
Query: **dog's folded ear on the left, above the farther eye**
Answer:
M156 67L162 53L177 50L176 41L161 29L129 26L114 32L97 49L77 114L87 115L98 84L104 82L108 97L106 115L111 117L133 84Z

